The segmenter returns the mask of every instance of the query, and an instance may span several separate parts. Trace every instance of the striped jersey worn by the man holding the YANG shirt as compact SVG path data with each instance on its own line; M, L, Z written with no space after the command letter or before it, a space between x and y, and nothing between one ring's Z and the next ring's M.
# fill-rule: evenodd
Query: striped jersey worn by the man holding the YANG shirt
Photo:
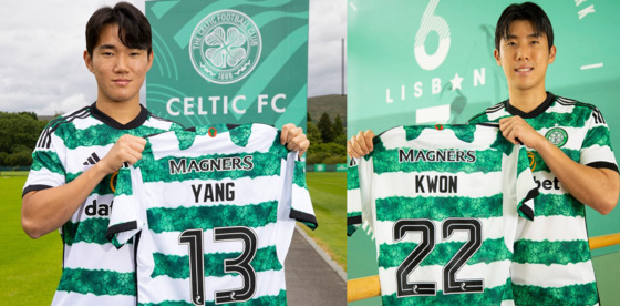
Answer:
M121 124L95 104L52 120L32 153L23 194L72 182L103 159L124 134L145 136L180 125L151 114ZM113 205L107 175L61 228L63 267L52 305L135 305L132 247L116 249L106 238Z

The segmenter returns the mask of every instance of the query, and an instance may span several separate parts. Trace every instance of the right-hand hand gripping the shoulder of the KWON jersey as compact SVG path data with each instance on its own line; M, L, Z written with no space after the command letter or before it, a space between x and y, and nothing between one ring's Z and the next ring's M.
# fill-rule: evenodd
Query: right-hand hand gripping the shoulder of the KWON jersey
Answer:
M518 115L503 118L499 120L499 130L504 137L514 144L525 144L525 146L538 150L547 141L531 125Z

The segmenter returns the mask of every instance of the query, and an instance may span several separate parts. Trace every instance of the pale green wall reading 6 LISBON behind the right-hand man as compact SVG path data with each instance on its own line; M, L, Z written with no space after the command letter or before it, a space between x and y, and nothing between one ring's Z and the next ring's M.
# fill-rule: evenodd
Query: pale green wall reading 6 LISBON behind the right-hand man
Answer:
M368 129L378 133L395 125L465 123L506 100L506 79L493 50L497 19L513 2L349 0L349 137ZM620 161L620 40L616 39L620 2L534 2L549 16L557 47L556 61L547 70L547 90L596 104L609 124ZM620 208L606 216L588 208L590 236L620 232L619 218ZM348 239L349 279L376 274L374 249L361 233ZM607 247L592 255L619 258L619 249ZM613 274L607 277L617 286L620 266L610 268ZM599 274L597 269L600 288L606 284ZM620 303L617 290L612 297L604 294L602 302ZM355 305L376 303L375 298Z

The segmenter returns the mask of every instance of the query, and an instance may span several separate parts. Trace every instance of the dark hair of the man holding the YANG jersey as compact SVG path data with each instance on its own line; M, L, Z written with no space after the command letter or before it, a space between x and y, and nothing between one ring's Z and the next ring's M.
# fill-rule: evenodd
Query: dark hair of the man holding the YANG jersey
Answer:
M136 7L118 2L114 8L96 10L86 23L86 51L93 54L101 30L108 24L118 24L118 39L127 48L147 50L151 54L151 23Z

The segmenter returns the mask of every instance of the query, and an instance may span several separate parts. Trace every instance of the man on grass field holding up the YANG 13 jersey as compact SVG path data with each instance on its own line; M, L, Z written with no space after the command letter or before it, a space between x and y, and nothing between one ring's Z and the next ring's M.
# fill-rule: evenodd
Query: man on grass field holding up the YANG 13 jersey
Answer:
M132 249L116 251L105 237L115 173L141 159L142 136L182 129L140 104L151 45L151 26L132 4L95 11L84 62L97 83L96 102L51 121L33 152L22 226L32 238L56 228L62 234L63 273L53 305L135 304ZM306 151L301 129L283 130L282 142Z

